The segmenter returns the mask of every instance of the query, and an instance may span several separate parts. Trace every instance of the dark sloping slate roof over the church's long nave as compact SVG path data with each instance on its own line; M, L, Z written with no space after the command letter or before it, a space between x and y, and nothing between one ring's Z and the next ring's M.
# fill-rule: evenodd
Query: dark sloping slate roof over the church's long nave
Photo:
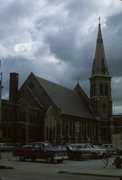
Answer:
M57 107L61 108L62 114L95 119L88 104L77 94L76 91L37 76L36 78Z

